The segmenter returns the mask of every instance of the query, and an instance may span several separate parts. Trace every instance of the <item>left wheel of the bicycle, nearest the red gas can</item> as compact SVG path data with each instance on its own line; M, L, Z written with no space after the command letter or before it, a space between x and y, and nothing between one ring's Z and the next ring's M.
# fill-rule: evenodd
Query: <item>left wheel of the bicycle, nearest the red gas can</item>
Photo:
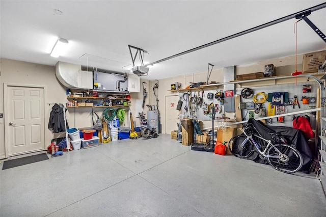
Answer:
M240 158L249 157L254 152L254 146L244 135L236 135L229 141L231 153Z

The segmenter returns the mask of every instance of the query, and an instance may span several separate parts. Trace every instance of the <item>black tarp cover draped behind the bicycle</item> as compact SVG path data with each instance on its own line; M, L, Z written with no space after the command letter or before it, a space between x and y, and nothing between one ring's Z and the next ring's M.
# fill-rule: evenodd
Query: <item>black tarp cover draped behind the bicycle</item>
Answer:
M262 138L270 140L272 135L269 134L269 132L280 132L283 137L287 140L288 144L294 144L295 148L301 153L303 157L303 166L301 170L308 170L309 164L312 159L312 152L308 146L308 143L305 139L305 136L301 130L293 129L291 127L285 127L285 126L266 126L263 122L257 121L253 118L249 119L247 124L251 123L256 128L258 133L261 135ZM260 140L257 138L256 141L258 143L263 143L263 140ZM264 142L265 143L265 142ZM258 152L255 149L255 152L248 157L248 159L251 159L255 162L259 162L261 164L268 164L266 159L261 159L259 157Z

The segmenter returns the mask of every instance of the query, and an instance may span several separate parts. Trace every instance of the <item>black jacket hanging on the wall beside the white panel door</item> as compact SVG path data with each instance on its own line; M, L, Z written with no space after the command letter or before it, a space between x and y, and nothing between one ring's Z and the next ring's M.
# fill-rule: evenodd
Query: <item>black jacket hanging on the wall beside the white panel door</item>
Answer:
M52 107L51 113L50 113L50 119L48 128L53 130L53 133L58 132L65 132L65 119L64 119L64 112L67 111L67 108L63 104L55 104ZM67 129L69 129L68 122L67 123Z

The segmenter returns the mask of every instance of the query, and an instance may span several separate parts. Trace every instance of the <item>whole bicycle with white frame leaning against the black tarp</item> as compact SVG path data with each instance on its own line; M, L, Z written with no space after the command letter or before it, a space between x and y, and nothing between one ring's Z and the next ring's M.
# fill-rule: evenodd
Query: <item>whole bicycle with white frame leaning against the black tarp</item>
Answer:
M252 124L248 123L243 127L243 134L236 135L229 141L229 149L234 156L247 158L256 148L260 158L267 159L268 164L278 171L295 173L301 169L303 158L300 152L285 144L286 140L280 133L269 133L272 137L266 140ZM255 139L261 139L264 145L257 143Z

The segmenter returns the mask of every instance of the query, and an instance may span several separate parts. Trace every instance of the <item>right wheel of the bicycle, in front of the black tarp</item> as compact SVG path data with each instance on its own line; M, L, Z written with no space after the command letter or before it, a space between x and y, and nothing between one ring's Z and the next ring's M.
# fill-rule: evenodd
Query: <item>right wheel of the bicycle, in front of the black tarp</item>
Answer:
M270 166L283 173L295 173L301 169L303 159L298 150L286 144L276 144L274 146L267 150L267 155L278 156L277 158L267 156Z

